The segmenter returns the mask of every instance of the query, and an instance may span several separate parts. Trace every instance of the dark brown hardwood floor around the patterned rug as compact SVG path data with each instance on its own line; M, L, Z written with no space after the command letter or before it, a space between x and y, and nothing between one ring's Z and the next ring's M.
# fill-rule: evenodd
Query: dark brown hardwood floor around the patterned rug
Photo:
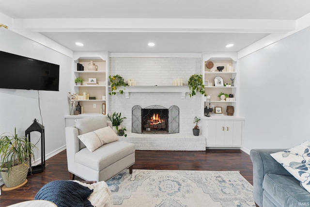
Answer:
M1 191L0 207L33 200L42 186L53 180L68 180L66 150L46 160L43 173L29 175L28 183L13 191ZM134 169L240 171L253 184L253 166L241 150L136 151ZM80 178L76 177L78 180ZM1 187L2 188L2 187Z

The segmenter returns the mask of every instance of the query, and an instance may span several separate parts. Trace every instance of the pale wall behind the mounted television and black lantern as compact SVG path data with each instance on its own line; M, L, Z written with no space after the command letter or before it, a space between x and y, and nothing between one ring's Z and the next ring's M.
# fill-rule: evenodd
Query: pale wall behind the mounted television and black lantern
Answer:
M39 91L39 95L45 126L46 155L64 149L64 115L69 112L68 92L71 88L67 77L72 76L72 59L4 28L0 28L0 39L1 51L60 65L59 92ZM0 66L0 69L10 68ZM0 89L0 97L0 133L14 133L16 127L19 135L25 135L25 130L35 118L42 124L38 91ZM36 143L39 135L38 132L31 132L31 142ZM37 146L41 148L40 143ZM41 157L38 153L35 159Z

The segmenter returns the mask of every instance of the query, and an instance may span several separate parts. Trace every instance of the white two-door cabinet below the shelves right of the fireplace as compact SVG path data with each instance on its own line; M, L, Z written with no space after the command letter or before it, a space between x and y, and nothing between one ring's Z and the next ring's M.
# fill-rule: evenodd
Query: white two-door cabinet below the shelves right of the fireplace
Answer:
M202 135L207 147L240 147L242 120L202 120Z

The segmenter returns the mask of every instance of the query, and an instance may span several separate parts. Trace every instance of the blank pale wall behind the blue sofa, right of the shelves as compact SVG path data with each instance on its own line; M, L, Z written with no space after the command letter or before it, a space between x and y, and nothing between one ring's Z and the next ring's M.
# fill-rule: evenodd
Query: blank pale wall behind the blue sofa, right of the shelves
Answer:
M243 146L290 148L310 140L310 28L239 60Z

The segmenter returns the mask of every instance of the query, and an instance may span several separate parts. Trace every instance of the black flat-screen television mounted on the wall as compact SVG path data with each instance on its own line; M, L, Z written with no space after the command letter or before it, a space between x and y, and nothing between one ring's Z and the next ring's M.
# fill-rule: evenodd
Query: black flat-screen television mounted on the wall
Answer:
M59 65L0 51L0 88L59 91Z

